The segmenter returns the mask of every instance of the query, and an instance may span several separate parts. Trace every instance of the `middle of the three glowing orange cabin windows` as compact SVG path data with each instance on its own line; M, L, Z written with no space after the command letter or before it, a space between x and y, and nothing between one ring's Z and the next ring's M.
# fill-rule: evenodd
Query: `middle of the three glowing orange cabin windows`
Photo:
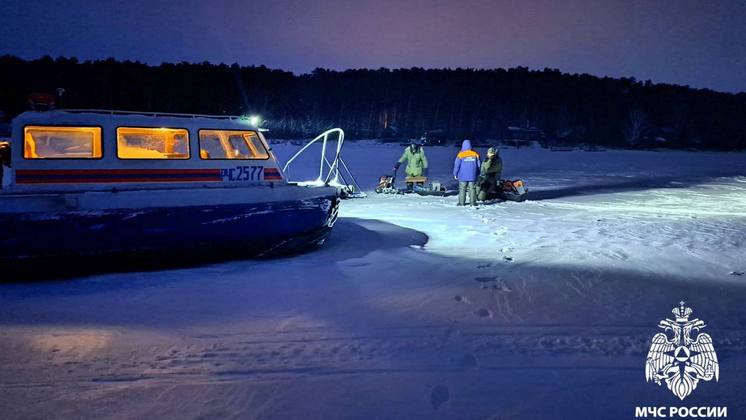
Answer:
M189 159L189 132L183 128L117 128L120 159Z

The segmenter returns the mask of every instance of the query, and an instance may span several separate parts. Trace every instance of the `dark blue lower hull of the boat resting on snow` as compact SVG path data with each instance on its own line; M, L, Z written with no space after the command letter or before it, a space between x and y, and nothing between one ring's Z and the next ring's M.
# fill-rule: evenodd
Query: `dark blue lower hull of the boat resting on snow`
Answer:
M45 275L282 255L321 245L339 199L0 214L0 269Z

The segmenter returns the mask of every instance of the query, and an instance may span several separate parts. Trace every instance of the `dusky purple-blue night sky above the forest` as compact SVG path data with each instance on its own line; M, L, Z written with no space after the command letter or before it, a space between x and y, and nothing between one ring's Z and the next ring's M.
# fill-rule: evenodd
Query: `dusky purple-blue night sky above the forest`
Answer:
M746 91L746 1L0 0L0 54L558 68Z

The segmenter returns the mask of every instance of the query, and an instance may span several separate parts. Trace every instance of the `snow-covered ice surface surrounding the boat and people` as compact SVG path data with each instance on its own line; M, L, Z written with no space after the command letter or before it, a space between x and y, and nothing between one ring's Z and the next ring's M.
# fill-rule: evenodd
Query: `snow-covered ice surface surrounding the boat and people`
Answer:
M368 190L400 153L345 146ZM633 418L682 405L644 379L680 300L721 371L683 405L746 417L746 155L501 154L528 201L371 194L299 256L0 284L0 417Z

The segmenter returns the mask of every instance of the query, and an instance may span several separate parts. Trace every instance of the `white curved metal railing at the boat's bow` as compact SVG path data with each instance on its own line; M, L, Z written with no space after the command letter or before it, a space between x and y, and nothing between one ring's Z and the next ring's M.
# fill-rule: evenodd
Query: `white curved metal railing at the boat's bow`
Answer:
M329 141L336 142L336 150L334 157L331 161L326 156L327 144ZM319 174L315 180L311 181L292 181L290 179L290 168L293 162L301 156L309 147L316 142L321 142L321 156L319 158ZM345 198L364 198L367 195L360 188L355 176L352 175L350 168L342 159L342 146L344 145L344 131L341 128L332 128L331 130L324 131L303 146L298 152L296 152L282 168L282 172L285 174L286 179L289 182L295 182L299 185L308 186L333 186L338 187L342 191L342 196Z

